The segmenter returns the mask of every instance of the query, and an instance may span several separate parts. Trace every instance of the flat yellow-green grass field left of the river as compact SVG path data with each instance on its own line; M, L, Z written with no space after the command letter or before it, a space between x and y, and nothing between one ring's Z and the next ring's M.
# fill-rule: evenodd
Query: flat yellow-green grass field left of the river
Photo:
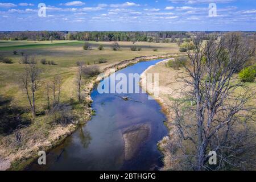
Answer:
M0 40L0 55L9 57L14 61L14 64L0 63L0 95L2 97L10 97L13 103L22 107L28 107L26 94L22 87L22 73L24 64L19 64L22 58L21 52L27 55L35 55L38 59L38 65L42 69L40 75L40 88L37 93L38 109L46 105L45 87L46 83L55 76L62 78L62 94L63 101L70 98L76 98L76 75L77 75L77 61L84 61L86 64L93 65L99 59L104 58L108 63L98 64L101 68L110 64L118 63L126 59L133 59L138 56L160 55L164 53L177 53L179 47L176 43L147 43L137 42L119 42L121 46L120 51L113 51L113 42L89 42L92 50L85 51L82 46L82 41L67 41L59 40L33 42L33 41L6 41ZM97 48L102 44L103 51ZM141 47L141 51L131 51L131 46ZM158 51L153 51L153 49ZM13 51L17 51L18 55L14 55ZM42 65L41 59L53 60L57 65Z

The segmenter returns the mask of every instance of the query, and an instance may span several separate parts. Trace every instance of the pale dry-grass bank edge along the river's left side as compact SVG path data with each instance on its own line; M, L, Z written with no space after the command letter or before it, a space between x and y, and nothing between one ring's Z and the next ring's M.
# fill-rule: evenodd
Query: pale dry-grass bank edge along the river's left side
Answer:
M168 57L174 57L179 55L179 53L167 53L164 55L152 55L152 56L140 56L135 57L134 59L129 60L123 60L117 64L110 65L102 70L101 76L98 76L96 78L91 78L89 84L85 86L85 94L87 97L85 98L86 102L93 102L92 98L90 97L90 93L92 92L95 85L98 84L102 79L110 76L114 71L118 71L120 69L126 68L130 65L134 65L136 63L139 63L140 61L149 61L154 59L167 59ZM103 75L103 76L102 76ZM92 107L85 106L86 110L89 110L89 113L92 111ZM9 159L0 159L0 171L15 171L15 170L23 170L27 166L29 166L32 162L34 162L38 158L38 151L40 148L40 151L46 151L49 152L53 148L59 146L62 144L67 137L69 137L71 134L73 134L78 127L81 125L86 125L87 122L90 121L92 117L92 114L89 114L89 118L86 121L74 121L73 123L76 124L70 124L67 127L64 127L66 130L64 133L61 133L56 136L53 140L47 140L43 144L36 146L36 149L31 151L31 154L24 154L24 156L19 156L18 159L15 160L9 160Z

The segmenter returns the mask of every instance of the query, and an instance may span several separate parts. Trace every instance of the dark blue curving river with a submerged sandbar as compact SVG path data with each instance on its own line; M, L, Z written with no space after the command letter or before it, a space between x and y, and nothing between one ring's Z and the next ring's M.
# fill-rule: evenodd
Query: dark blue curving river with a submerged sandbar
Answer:
M141 74L162 60L144 61L117 73ZM108 79L108 78L106 78ZM138 83L135 83L138 85ZM141 88L139 87L141 90ZM132 100L125 101L120 96ZM165 116L148 94L92 92L96 115L63 144L47 154L47 165L28 170L157 170L162 167L156 144L167 135Z

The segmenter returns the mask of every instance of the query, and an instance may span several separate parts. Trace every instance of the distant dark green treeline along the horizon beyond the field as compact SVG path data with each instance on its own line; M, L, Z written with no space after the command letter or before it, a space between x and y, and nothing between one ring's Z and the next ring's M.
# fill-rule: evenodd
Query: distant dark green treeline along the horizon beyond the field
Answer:
M189 32L182 31L10 31L0 32L1 40L87 40L87 41L128 41L128 42L175 42L176 39L188 39Z

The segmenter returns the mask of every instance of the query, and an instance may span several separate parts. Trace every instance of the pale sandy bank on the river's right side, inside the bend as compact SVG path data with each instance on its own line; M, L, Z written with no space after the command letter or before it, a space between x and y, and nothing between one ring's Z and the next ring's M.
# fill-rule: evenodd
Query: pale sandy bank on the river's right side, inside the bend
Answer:
M152 97L159 102L160 106L162 107L163 112L166 114L167 121L166 126L169 129L169 135L164 137L161 141L158 143L158 147L163 153L163 163L164 167L162 170L168 170L171 168L174 168L175 166L175 160L172 157L169 150L167 150L168 146L170 146L170 143L172 143L173 140L176 140L175 136L175 128L172 126L172 101L173 99L181 98L180 90L183 88L183 84L176 81L176 76L181 73L179 70L175 70L173 68L167 68L166 62L170 60L163 60L159 62L156 65L152 65L146 71L144 71L141 75L141 86L142 89L145 90L148 94L152 93L152 90L147 90L146 87L146 80L147 80L147 74L148 73L158 73L159 74L159 95Z

